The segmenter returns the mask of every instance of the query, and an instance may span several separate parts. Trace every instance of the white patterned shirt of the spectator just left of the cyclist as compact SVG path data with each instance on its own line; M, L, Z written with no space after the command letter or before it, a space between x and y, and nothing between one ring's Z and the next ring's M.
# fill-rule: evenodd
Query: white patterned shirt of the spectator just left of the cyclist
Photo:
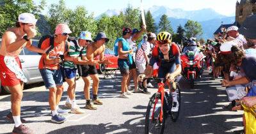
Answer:
M141 48L138 50L135 61L138 63L146 63L146 59L143 55L145 52L146 55L150 53L150 43L147 41L141 45Z

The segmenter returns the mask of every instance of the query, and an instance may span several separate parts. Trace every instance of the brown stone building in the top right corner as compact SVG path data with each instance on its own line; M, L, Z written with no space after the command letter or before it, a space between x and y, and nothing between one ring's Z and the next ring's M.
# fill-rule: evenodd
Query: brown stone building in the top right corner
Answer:
M256 0L241 0L236 3L236 22L243 24L246 17L256 14Z

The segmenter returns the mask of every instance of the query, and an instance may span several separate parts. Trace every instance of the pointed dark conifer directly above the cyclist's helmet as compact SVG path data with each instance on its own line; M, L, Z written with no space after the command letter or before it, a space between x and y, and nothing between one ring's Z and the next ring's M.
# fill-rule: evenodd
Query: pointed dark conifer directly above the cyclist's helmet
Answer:
M168 20L167 15L162 15L160 18L160 22L158 24L159 31L167 31L169 33L173 33L173 29L171 26L170 20Z

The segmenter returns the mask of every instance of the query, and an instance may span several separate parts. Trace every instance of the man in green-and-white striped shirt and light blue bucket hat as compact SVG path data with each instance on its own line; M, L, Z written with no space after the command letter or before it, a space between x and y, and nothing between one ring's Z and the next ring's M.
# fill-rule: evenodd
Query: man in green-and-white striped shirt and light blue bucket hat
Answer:
M76 105L75 89L76 89L76 64L91 64L96 62L88 61L86 58L86 47L92 41L91 33L88 31L82 31L78 40L70 40L68 46L68 52L65 53L64 73L65 80L68 83L67 101L65 107L71 107L71 113L83 114L83 110ZM78 66L81 68L81 66ZM79 70L82 71L83 70Z

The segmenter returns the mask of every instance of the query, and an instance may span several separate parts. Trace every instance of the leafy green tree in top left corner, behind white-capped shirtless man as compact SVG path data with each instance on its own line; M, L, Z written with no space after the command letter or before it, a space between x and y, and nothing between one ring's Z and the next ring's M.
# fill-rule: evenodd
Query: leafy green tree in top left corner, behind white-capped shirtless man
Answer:
M38 18L39 13L44 10L45 0L39 5L32 0L3 0L0 6L0 36L6 29L15 26L20 13L33 13Z

